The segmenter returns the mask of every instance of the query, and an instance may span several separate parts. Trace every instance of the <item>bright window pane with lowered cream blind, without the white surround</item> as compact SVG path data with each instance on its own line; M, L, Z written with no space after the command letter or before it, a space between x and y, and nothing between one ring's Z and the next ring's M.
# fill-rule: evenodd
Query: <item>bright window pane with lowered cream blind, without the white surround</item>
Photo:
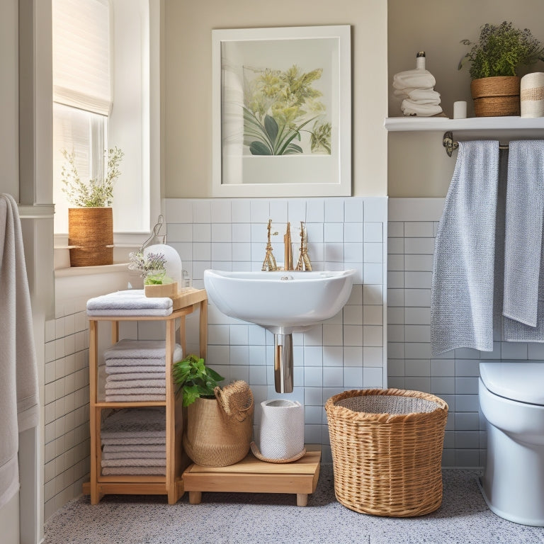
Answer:
M111 111L108 0L53 0L53 198L55 232L68 232L62 149L81 179L103 176Z

